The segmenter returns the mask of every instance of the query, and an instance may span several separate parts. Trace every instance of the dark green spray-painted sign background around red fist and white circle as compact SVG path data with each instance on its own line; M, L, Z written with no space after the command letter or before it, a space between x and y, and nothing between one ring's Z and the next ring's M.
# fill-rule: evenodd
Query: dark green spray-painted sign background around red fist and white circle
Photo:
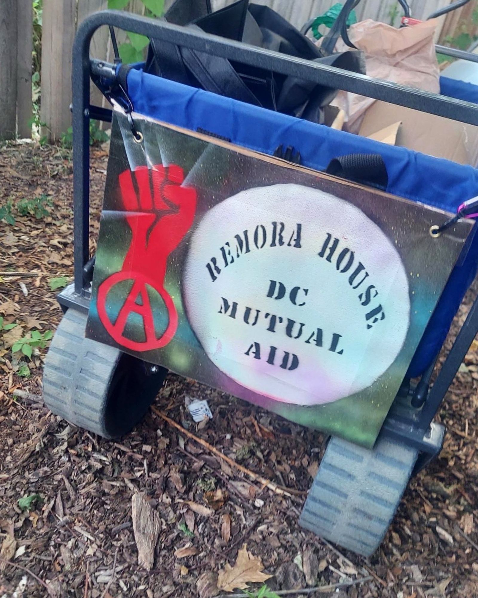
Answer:
M442 224L448 219L448 215L439 210L384 196L363 187L342 184L338 179L306 169L287 167L280 161L271 163L263 160L259 154L246 155L233 146L226 148L217 145L213 139L209 142L185 135L139 115L135 121L142 130L143 144L132 142L124 116L117 114L114 119L87 336L118 346L99 321L96 296L100 283L121 270L130 246L131 231L124 218L118 190L119 173L142 164L177 164L183 168L188 185L197 190L195 224L171 254L164 285L173 297L179 325L176 335L166 347L144 353L128 352L182 376L259 404L294 422L371 447L470 231L470 223L458 222L439 239L433 239L428 232L430 226ZM402 350L393 364L369 388L335 402L310 407L278 402L244 388L220 371L204 352L188 321L182 288L189 241L208 210L241 190L289 183L323 190L353 203L392 240L405 270L419 273L419 276L414 274L409 280L410 326ZM131 284L121 283L109 293L107 307L112 319L124 303ZM158 295L151 294L149 298L159 335L167 324L164 304ZM138 331L141 325L141 318L134 316L128 320L128 331L133 336L140 335ZM367 364L363 364L363 367L367 367Z

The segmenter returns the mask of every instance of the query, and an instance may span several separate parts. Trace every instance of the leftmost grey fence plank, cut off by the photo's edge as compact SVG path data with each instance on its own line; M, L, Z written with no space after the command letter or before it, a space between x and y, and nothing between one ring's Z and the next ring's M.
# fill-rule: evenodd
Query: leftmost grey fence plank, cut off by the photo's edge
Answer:
M0 1L0 140L13 139L17 113L17 0Z

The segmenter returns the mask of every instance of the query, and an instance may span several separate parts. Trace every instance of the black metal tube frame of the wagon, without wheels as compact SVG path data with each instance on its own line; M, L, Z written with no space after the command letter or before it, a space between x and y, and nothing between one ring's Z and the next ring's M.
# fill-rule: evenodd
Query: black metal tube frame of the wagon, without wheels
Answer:
M173 42L183 47L215 54L247 65L258 66L284 75L310 80L317 84L353 91L364 96L384 100L422 112L430 112L452 120L478 126L478 106L471 102L451 99L439 94L411 89L388 81L374 80L366 75L343 71L293 56L286 56L263 48L253 47L229 39L208 35L196 29L186 29L166 22L147 19L119 11L102 11L87 17L78 28L73 45L73 233L74 273L73 285L59 294L63 307L75 306L88 309L89 283L92 262L89 255L89 120L111 120L111 111L90 106L90 71L96 74L112 72L111 65L100 61L90 62L90 41L100 26L113 26L133 33L141 33L159 42ZM442 51L440 48L439 51ZM443 53L455 56L457 51L443 48ZM459 51L458 51L459 52ZM466 54L466 56L462 56ZM472 56L462 53L459 57ZM478 299L456 336L454 345L440 369L436 382L428 394L433 366L422 376L421 383L405 392L405 397L394 402L385 420L381 434L399 440L421 451L416 470L426 465L439 453L445 428L433 424L432 419L458 371L468 347L478 332ZM418 396L418 388L420 388ZM413 396L415 393L415 401ZM418 397L418 399L417 399Z

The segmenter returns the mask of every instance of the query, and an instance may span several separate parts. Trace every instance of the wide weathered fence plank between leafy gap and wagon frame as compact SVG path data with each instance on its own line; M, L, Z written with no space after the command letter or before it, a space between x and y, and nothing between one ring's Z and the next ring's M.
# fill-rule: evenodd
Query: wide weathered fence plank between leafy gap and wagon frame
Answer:
M75 20L76 0L44 0L40 114L47 124L45 133L50 141L60 139L71 126L71 50Z

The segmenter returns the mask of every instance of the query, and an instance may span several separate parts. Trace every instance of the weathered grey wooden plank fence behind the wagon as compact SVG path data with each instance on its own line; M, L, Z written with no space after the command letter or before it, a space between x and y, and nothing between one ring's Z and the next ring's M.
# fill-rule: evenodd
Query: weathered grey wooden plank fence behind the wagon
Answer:
M166 8L173 0L166 0ZM212 0L213 8L222 8L234 0ZM308 19L322 14L337 0L253 0L274 8L293 25L300 28ZM409 0L412 15L424 19L451 0ZM44 0L41 64L41 112L45 133L51 140L59 139L71 126L71 50L75 31L88 14L103 10L108 0ZM440 19L437 41L454 35L466 24L477 1ZM129 10L144 14L141 0L131 0ZM356 8L361 19L381 20L394 25L401 9L396 0L362 0ZM476 33L476 31L474 31ZM118 42L125 41L118 32ZM112 61L108 28L93 36L91 56ZM32 116L32 0L0 0L0 139L16 134L30 137ZM104 98L92 88L92 99L104 105Z

